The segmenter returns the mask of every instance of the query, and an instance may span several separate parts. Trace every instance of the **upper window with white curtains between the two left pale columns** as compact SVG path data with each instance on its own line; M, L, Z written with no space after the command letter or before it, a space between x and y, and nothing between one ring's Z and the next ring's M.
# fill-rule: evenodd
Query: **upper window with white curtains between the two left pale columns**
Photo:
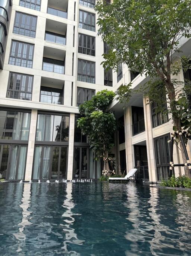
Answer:
M69 141L69 116L38 114L36 141Z

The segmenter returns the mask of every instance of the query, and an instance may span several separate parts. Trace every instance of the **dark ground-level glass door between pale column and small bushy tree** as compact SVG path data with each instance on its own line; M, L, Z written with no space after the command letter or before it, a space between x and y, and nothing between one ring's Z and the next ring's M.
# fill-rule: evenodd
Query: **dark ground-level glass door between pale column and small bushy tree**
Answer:
M88 148L74 147L73 155L73 178L85 179L89 177L88 172Z

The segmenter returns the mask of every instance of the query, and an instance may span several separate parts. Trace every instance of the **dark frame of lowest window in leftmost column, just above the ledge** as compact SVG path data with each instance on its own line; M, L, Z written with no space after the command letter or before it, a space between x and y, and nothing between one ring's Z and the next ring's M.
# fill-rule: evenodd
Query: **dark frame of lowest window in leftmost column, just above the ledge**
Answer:
M11 75L14 74L14 78L13 78L13 89L10 89L10 81L11 81ZM17 83L17 75L21 75L21 79L20 79L20 84L22 84L23 81L23 76L26 76L26 81L25 81L25 90L16 90L16 83ZM28 85L29 85L29 78L32 79L31 81L31 91L28 91ZM15 98L15 97L8 97L8 91L12 91L14 92L18 92L18 93L25 93L25 99L22 100L32 100L32 89L33 89L33 81L34 81L34 76L32 75L27 75L27 74L22 74L22 73L15 73L15 72L9 72L9 80L8 80L8 85L7 85L7 93L6 93L6 98L9 99L20 99L20 98ZM26 94L31 94L31 99L26 99Z

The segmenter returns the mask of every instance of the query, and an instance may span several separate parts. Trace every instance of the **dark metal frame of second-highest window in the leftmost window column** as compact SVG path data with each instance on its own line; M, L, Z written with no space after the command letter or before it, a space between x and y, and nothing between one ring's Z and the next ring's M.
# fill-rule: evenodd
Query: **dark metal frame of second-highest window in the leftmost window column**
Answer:
M19 15L19 21L18 21L18 25L16 25L16 19L17 19L17 15ZM22 20L23 20L23 16L25 15L25 24L22 26ZM30 17L30 22L29 22L29 28L27 29L27 19L28 17ZM33 22L35 22L35 29L32 29L32 25ZM18 31L15 31L15 29L18 29ZM21 30L24 30L24 34L21 33ZM37 16L34 15L30 15L27 13L23 13L23 12L15 12L15 20L14 20L14 25L13 25L13 34L19 34L21 36L28 36L28 37L32 37L35 38L36 37L36 30L37 30ZM26 31L29 31L29 35L26 34ZM31 34L31 32L33 32L34 34Z

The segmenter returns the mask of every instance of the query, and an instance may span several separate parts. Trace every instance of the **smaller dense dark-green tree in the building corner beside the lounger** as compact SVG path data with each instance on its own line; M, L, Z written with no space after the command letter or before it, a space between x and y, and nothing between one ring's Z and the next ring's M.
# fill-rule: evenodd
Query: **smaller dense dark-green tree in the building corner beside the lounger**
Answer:
M77 125L81 128L82 134L87 136L95 160L101 156L107 158L104 162L107 171L109 171L108 153L113 147L116 131L115 116L107 108L114 97L113 91L98 91L91 100L78 107L81 118L78 119Z

